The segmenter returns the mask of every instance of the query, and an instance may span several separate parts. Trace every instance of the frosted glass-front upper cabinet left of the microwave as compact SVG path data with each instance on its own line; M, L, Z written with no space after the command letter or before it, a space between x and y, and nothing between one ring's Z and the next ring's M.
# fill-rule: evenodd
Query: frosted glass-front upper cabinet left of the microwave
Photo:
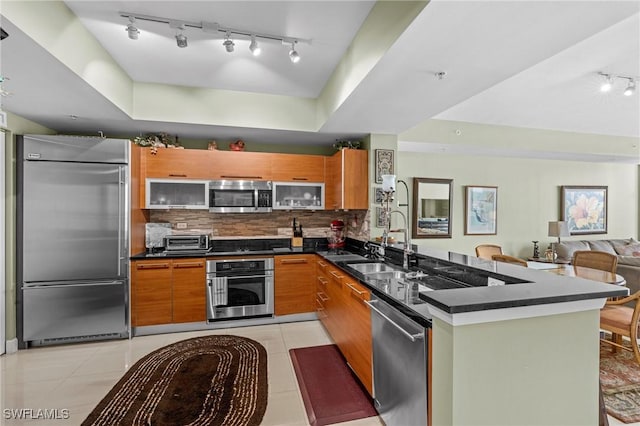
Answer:
M147 179L147 209L209 209L209 181Z

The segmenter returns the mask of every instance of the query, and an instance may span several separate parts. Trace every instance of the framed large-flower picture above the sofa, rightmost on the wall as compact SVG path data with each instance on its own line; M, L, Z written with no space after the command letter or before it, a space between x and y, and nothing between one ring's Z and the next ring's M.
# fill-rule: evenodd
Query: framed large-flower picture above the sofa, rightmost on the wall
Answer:
M562 220L571 235L607 233L606 186L562 186Z

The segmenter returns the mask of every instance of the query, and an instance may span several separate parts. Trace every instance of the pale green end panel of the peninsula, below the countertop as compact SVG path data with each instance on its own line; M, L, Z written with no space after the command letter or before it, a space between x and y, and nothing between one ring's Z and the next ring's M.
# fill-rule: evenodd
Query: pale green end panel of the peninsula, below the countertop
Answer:
M599 311L452 327L434 319L434 425L595 425Z

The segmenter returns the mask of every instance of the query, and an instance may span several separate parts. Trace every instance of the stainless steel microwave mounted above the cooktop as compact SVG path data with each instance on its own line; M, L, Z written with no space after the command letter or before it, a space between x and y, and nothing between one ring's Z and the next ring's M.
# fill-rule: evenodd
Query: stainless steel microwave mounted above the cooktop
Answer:
M209 182L212 213L270 212L271 181L214 180Z

